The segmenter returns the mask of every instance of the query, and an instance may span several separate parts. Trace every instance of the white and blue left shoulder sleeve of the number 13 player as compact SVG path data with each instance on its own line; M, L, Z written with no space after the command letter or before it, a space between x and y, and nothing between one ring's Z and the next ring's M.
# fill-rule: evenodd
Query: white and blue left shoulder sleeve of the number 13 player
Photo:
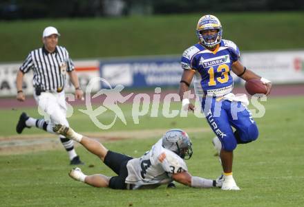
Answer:
M182 58L180 59L182 69L196 71L197 66L195 55L198 51L198 48L195 46L189 47L187 50L184 51L184 53L182 54Z

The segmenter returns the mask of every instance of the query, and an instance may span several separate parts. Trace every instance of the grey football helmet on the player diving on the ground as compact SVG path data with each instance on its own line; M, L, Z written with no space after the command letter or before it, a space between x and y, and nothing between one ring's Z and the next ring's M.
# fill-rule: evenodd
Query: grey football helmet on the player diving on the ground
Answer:
M192 156L192 148L189 135L181 129L170 129L162 136L162 147L173 151L184 160Z

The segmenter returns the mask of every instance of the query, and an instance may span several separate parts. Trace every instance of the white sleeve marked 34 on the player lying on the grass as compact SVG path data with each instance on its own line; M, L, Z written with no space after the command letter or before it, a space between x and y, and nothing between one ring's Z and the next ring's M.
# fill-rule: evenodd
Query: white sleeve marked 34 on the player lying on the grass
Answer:
M188 171L187 165L178 155L173 153L162 153L160 156L164 156L161 164L164 171L168 173L169 177L172 177L175 173L182 173Z

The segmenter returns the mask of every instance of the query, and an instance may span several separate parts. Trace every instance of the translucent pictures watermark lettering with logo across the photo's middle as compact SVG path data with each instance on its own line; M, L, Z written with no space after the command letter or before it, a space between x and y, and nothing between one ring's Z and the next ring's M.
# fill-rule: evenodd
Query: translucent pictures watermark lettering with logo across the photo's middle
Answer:
M102 83L102 85L105 85L106 88L100 89L96 94L93 95L93 85L95 85L97 82ZM187 118L189 116L189 111L182 107L180 96L177 93L166 94L161 100L162 89L160 87L155 87L154 94L152 95L145 93L130 93L122 96L121 92L123 89L123 85L116 85L115 87L111 87L111 85L104 78L92 78L86 86L85 90L86 109L78 110L82 113L85 113L99 129L111 129L111 127L113 127L115 124L117 118L119 118L124 124L127 124L124 112L120 108L120 105L129 99L131 100L132 104L132 124L140 124L140 118L143 116L150 116L151 118ZM244 94L240 95L244 96ZM99 96L104 96L103 101L100 103L100 105L93 105L92 99ZM238 94L236 94L236 96L238 96ZM66 98L69 102L75 101L74 94L66 94ZM191 91L187 91L187 98L189 98L192 104L195 106L195 109L193 111L194 116L197 118L205 118L208 115L211 109L213 99L212 97L205 97L204 108L202 108L202 99L199 96L191 94ZM225 98L223 100L225 100ZM254 109L248 109L248 103L242 103L239 105L238 102L231 102L231 116L232 118L237 119L237 113L243 110L248 110L251 118L261 118L265 115L266 111L264 105L261 102L265 101L267 101L267 96L265 96L265 94L256 94L255 96L251 96L249 102L251 103L252 107L254 107ZM180 109L171 109L172 102L180 102ZM216 101L213 104L213 116L220 116L220 110L222 110L222 101ZM68 102L66 102L66 105L66 117L69 118L73 116L74 108ZM113 113L113 120L110 123L108 123L108 120L106 120L107 124L104 124L100 121L102 120L100 117L102 117L102 114L106 111ZM41 116L44 116L45 120L49 120L48 114L46 114L42 109L38 108L38 112Z

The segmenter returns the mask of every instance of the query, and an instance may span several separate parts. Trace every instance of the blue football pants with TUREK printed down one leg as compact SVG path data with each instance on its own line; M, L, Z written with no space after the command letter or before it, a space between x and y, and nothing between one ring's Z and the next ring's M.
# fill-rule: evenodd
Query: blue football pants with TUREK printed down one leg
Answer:
M202 109L207 122L226 151L233 151L237 144L245 144L258 138L256 122L241 102L216 100L215 97L203 98ZM236 129L235 132L232 127Z

